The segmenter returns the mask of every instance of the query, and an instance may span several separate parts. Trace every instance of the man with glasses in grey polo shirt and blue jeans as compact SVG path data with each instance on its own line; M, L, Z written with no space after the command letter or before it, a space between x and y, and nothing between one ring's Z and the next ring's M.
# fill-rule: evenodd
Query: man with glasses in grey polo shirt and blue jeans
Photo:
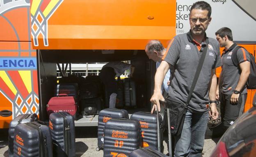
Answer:
M197 70L203 49L207 49L201 73L194 88L181 135L175 137L174 157L201 157L208 116L217 119L215 68L221 65L219 43L206 36L211 21L211 7L207 2L195 2L190 9L190 31L176 35L167 47L162 62L155 73L155 88L151 102L160 111L159 100L165 100L161 94L161 85L169 69L173 77L169 86L169 97L184 104ZM209 44L206 47L206 38ZM209 110L210 100L210 110Z

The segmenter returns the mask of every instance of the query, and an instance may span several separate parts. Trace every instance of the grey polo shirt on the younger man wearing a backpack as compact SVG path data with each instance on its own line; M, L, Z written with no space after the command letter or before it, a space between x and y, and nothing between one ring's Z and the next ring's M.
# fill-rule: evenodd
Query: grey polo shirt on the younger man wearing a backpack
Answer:
M236 86L238 85L238 81L240 78L240 70L236 67L231 59L232 50L236 47L236 44L230 46L230 48L225 51L222 55L222 93L231 95L234 93ZM246 49L238 49L237 53L238 64L249 61L250 56L249 52ZM247 88L246 85L242 88L241 94L246 94Z

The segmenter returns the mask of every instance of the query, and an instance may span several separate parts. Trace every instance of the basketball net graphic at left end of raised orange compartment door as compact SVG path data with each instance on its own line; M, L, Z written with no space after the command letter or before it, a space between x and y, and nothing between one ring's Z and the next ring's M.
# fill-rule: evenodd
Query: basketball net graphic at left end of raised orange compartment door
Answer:
M33 0L31 1L31 35L34 46L39 46L38 37L43 36L44 46L48 44L48 20L63 0Z

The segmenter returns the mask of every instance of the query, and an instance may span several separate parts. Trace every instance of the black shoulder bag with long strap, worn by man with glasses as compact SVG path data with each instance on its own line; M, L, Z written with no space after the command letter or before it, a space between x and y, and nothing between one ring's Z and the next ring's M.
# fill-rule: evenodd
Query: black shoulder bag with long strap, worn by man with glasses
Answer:
M197 66L197 71L196 71L196 74L194 76L194 79L193 79L193 82L192 82L192 85L191 85L191 88L190 88L190 92L187 96L186 104L184 104L183 102L181 102L179 100L174 100L171 97L167 97L165 99L166 103L164 103L164 104L165 104L166 108L169 108L169 113L170 113L170 118L169 118L170 119L170 128L171 128L170 132L171 132L172 135L178 136L178 135L181 134L183 124L184 124L184 120L185 120L185 115L186 115L186 112L187 112L187 107L188 107L188 104L190 102L192 93L194 91L194 87L196 86L199 74L201 72L201 69L202 69L202 66L203 66L203 61L206 57L206 52L207 52L207 49L208 49L208 43L209 43L209 41L208 41L208 39L206 39L206 46L203 48L203 53L200 57L199 64ZM165 118L164 119L167 119L167 110L165 110ZM164 122L165 126L168 126L167 120L164 120L164 121L165 121Z

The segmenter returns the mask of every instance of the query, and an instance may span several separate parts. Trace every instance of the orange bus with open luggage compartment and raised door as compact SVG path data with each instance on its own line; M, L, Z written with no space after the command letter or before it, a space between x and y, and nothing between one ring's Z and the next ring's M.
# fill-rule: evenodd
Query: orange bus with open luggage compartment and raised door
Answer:
M155 63L144 46L158 39L164 46L174 35L189 30L186 0L1 0L0 2L0 128L19 114L37 113L47 120L46 104L54 95L56 64L130 60L135 65L139 107L151 108ZM248 2L206 0L213 8L207 35L221 27L235 30L238 44L255 53L255 15ZM251 3L255 3L251 0ZM229 8L229 9L224 9ZM229 10L228 13L222 11ZM250 25L225 22L226 16ZM231 19L232 20L232 19ZM238 30L236 29L238 28ZM243 36L240 36L242 34ZM246 38L245 38L246 37ZM254 91L248 92L245 110ZM98 117L81 118L75 126L97 126Z

